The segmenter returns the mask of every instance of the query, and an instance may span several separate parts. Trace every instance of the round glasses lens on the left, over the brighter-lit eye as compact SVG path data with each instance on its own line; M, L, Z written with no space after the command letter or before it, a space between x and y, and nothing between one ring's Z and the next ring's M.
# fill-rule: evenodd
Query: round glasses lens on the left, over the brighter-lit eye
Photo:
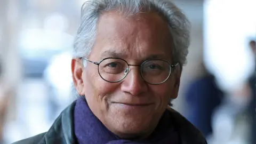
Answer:
M100 76L109 82L118 82L122 80L128 68L127 63L122 59L105 59L99 64Z

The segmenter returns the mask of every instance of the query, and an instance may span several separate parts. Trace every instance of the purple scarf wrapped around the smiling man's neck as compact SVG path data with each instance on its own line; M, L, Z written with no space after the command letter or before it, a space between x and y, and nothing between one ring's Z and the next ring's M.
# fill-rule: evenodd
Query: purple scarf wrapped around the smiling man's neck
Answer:
M74 111L75 135L77 143L79 144L146 144L146 143L159 143L159 144L178 144L179 135L174 130L171 123L169 111L165 111L164 115L159 121L155 131L148 139L131 141L123 140L117 137L114 133L110 132L92 113L85 98L77 99Z

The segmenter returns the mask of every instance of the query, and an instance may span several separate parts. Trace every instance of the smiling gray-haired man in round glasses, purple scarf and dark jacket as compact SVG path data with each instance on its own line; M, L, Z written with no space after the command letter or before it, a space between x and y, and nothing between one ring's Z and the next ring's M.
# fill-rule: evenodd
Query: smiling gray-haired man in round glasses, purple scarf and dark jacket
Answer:
M168 104L177 98L189 21L170 1L82 7L71 71L79 98L21 143L206 143Z

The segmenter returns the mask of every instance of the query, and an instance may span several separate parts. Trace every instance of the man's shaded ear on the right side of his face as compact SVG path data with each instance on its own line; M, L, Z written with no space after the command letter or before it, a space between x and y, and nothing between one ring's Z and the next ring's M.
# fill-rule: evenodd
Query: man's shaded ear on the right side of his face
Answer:
M182 72L182 66L179 64L174 69L174 85L173 85L173 94L171 99L176 99L178 97L179 88L180 88L180 77Z

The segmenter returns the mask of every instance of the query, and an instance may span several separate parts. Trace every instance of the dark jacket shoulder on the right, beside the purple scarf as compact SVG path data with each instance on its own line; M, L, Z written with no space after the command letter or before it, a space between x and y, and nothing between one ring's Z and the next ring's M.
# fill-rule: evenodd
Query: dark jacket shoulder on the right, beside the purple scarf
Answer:
M185 117L183 117L178 111L167 108L170 111L173 123L179 132L182 142L195 143L195 144L207 144L204 135L193 124L191 124Z

